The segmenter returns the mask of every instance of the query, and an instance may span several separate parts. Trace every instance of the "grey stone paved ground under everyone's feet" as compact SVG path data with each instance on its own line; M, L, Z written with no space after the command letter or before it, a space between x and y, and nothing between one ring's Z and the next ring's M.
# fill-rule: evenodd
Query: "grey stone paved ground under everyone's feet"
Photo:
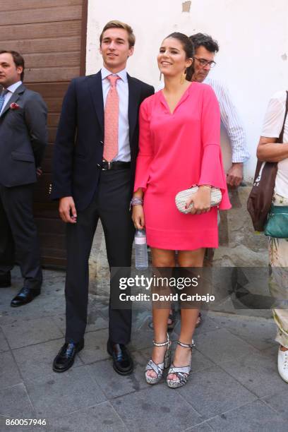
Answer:
M1 432L287 430L288 388L277 373L270 318L205 314L196 330L190 380L172 390L164 382L145 383L149 311L134 313L136 370L121 377L106 352L107 301L91 294L85 348L70 371L57 374L52 359L64 342L64 273L45 270L41 296L10 308L20 287L16 269L13 287L0 291ZM173 340L178 331L179 323ZM9 418L46 419L47 426L5 426Z

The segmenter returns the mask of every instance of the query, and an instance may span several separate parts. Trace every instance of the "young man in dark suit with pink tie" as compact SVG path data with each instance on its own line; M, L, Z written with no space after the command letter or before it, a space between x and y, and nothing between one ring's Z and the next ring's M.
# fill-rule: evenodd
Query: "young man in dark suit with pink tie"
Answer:
M114 370L133 371L126 348L131 308L114 308L119 276L131 266L133 223L129 212L138 153L138 110L154 88L126 73L135 36L127 24L110 21L100 35L102 69L72 80L64 98L54 151L52 198L67 223L66 341L53 369L64 372L84 346L88 306L88 259L101 220L112 272L107 351Z

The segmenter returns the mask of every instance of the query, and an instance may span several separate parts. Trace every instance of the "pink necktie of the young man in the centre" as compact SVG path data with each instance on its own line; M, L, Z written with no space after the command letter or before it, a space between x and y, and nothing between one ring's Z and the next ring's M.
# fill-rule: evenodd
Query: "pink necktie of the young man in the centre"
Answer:
M118 155L119 95L116 80L119 80L119 76L109 75L107 79L110 82L110 89L104 109L103 159L111 162Z

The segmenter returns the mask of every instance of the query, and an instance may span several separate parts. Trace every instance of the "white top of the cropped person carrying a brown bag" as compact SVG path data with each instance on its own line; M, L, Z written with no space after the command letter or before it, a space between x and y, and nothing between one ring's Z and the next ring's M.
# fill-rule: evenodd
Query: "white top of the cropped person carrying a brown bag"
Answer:
M270 99L265 114L261 136L267 138L279 138L286 109L286 91L275 93ZM284 125L283 143L288 143L288 116ZM281 143L279 143L281 145ZM288 198L288 157L278 162L278 170L275 180L275 192L284 198Z

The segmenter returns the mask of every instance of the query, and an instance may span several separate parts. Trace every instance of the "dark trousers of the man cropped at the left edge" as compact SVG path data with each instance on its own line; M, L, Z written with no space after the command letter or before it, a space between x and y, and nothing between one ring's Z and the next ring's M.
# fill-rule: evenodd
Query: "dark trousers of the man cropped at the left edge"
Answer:
M24 287L38 289L42 270L32 205L33 184L0 186L0 278L6 277L17 262Z

